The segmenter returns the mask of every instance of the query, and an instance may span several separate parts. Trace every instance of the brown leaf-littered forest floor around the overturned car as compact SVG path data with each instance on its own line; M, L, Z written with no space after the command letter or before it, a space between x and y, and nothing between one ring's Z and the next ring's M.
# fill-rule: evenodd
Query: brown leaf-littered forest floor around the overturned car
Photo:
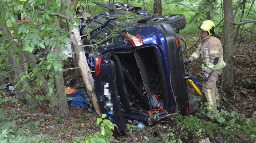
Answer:
M193 35L181 34L180 36L188 42L188 47L195 44L198 39L198 37ZM217 83L219 93L221 95L220 109L226 110L230 113L235 110L236 113L243 114L245 119L254 118L253 115L256 111L255 44L255 42L235 44L235 47L239 45L239 48L235 52L235 55L239 56L234 57L235 93L233 95L223 94L223 92L221 92L221 81L219 80ZM181 45L184 47L184 43L181 42ZM188 58L195 49L196 47L193 47L188 51L188 53L186 52L184 59ZM198 60L190 64L188 69L190 70L190 73L192 73L196 79L202 83L202 78L200 77L200 65L201 61ZM64 68L69 67L73 67L72 60L68 60L64 63ZM73 78L74 74L72 73L74 73L74 71L68 71L68 75L65 77L65 83ZM66 86L73 88L76 83L79 82L75 82L73 84L66 83ZM190 92L197 95L193 90ZM15 99L15 96L7 96L11 99ZM20 101L13 102L13 100L10 100L3 102L0 105L0 108L3 108L2 113L8 116L7 121L17 121L13 126L14 132L20 131L27 136L33 133L37 134L38 136L36 138L40 138L40 141L80 142L84 140L85 137L100 131L100 129L95 125L99 116L95 113L94 109L89 108L88 110L69 107L71 117L63 117L61 115L50 114L48 102L43 101L41 102L41 105L42 106L40 108L33 108L21 103ZM201 112L202 110L198 111L198 113ZM192 116L195 117L195 120L193 121L189 120L188 117L190 116L187 116L186 120L182 119L183 116L181 116L182 118L179 118L180 116L178 116L168 117L166 120L159 121L158 123L150 126L147 123L144 123L146 125L144 129L138 129L137 125L139 122L134 120L132 125L127 125L127 132L130 134L129 136L113 137L113 140L120 142L167 142L171 140L200 142L205 138L210 138L210 142L255 142L255 136L246 137L250 136L250 134L246 134L246 131L238 132L234 136L228 136L228 133L225 134L222 132L223 130L219 129L214 130L212 133L207 132L206 128L201 128L204 127L201 126L201 124L207 123L208 125L215 125L216 123L216 125L223 128L225 125L220 125L220 122L214 121L210 119L210 117L200 117L202 114L192 114ZM199 125L195 125L194 127L196 131L193 131L192 126L187 128L181 127L187 125L183 122L191 123L191 125L199 123ZM233 131L235 132L236 130ZM240 134L240 136L238 136L238 134Z

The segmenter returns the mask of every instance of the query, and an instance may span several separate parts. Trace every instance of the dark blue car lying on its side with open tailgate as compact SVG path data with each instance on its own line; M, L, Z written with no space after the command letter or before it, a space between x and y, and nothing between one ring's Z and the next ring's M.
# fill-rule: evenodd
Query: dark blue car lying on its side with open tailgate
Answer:
M186 26L184 15L153 18L126 3L112 6L80 29L88 63L95 71L95 93L102 113L123 135L128 119L147 121L179 111L197 110L189 95L177 33Z

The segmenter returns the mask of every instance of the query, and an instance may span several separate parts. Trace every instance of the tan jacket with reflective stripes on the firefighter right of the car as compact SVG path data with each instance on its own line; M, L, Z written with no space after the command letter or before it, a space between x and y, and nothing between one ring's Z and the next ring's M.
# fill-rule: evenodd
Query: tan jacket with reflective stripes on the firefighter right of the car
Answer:
M223 49L218 38L208 35L201 39L201 43L196 51L190 56L192 62L202 59L202 70L211 73L213 70L222 69L226 66L223 60Z

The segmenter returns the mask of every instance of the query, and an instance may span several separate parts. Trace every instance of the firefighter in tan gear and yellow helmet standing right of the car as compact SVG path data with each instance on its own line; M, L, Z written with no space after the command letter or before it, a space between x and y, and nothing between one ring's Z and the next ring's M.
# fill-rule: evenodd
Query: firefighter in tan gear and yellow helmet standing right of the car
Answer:
M223 60L223 49L219 41L220 36L216 35L214 22L206 20L198 27L201 32L201 43L189 59L184 61L187 66L196 59L202 59L203 83L202 92L207 109L215 112L216 103L219 103L219 94L216 87L218 77L222 74L226 63Z

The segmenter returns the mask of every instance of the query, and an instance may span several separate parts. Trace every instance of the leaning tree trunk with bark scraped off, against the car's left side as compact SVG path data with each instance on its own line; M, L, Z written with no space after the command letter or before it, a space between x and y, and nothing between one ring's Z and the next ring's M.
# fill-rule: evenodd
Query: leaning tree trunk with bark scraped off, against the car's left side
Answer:
M75 7L74 4L72 5L71 0L61 0L61 4L63 7L65 6L70 6L71 8ZM73 21L75 17L75 15L70 13L68 10L65 10L65 16L70 21ZM70 30L69 32L70 37L72 39L73 46L74 46L74 52L76 54L75 57L77 58L76 61L78 62L79 69L81 70L82 79L84 80L86 85L86 91L88 94L90 94L91 92L93 92L92 88L93 88L94 80L92 78L90 68L87 63L85 50L82 47L80 32L78 27L74 27L73 25L69 25L69 30ZM94 92L92 93L92 104L97 114L101 116L98 100Z

